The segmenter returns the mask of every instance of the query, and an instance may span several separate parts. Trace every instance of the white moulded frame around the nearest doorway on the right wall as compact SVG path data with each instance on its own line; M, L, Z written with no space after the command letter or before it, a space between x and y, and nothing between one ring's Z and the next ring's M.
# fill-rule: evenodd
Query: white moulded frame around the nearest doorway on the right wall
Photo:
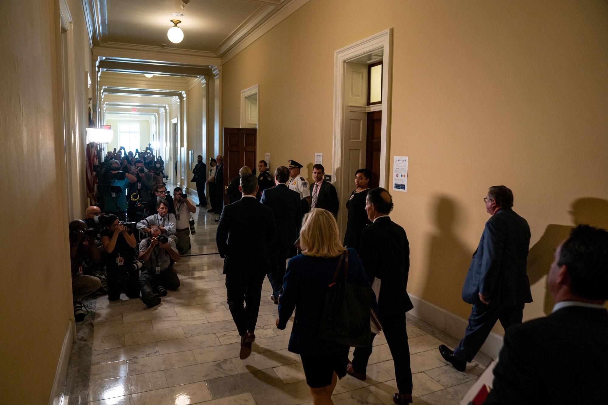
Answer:
M331 162L331 174L334 176L336 190L339 190L338 198L342 206L348 199L348 195L343 191L345 181L350 181L353 173L345 173L344 156L342 144L348 134L345 133L344 125L344 77L345 64L354 61L359 57L371 54L382 49L383 72L382 72L382 126L380 142L380 179L379 187L387 189L390 168L389 145L390 145L390 107L391 107L391 88L392 88L392 47L393 29L389 28L382 32L372 35L369 38L350 44L334 53L334 126L333 126L333 159ZM346 215L342 210L342 215L338 215L338 226L345 229Z

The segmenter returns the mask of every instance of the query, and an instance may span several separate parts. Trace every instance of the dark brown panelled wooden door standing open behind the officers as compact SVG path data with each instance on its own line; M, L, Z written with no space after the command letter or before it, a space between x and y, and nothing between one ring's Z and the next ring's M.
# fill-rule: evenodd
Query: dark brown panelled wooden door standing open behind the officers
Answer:
M247 166L255 174L257 129L224 128L224 204L228 204L226 188L238 171Z

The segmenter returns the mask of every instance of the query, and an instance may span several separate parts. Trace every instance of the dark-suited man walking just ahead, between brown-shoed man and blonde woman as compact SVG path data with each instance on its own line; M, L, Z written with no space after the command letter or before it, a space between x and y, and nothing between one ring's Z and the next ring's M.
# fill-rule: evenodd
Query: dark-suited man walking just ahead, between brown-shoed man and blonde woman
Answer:
M259 181L259 179L258 179ZM278 304L278 297L283 294L283 277L285 277L285 261L289 251L298 238L302 226L302 203L300 194L289 190L289 169L285 166L277 167L274 171L274 181L277 185L264 190L260 202L272 208L275 224L277 224L277 238L270 247L271 271L268 280L272 285L271 300Z

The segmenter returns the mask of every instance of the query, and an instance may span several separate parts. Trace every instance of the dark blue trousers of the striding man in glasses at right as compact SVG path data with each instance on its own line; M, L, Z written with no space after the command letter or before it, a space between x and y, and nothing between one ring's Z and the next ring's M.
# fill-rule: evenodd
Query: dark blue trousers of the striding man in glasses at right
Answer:
M505 330L511 325L521 324L523 318L523 303L514 306L489 305L484 303L473 305L469 324L466 326L465 337L460 341L460 345L454 349L454 357L458 360L473 361L477 351L482 347L488 335L492 331L496 321Z

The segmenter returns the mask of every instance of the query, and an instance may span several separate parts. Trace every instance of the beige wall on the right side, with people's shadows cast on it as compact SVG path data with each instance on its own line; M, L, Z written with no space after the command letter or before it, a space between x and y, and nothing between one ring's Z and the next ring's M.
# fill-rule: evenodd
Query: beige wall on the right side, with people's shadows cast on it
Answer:
M390 27L388 155L410 157L408 192L392 192L408 291L468 316L460 288L482 198L505 184L532 232L525 317L541 316L567 227L608 226L608 4L311 0L224 64L223 126L239 125L240 91L259 83L258 159L306 167L322 151L331 167L334 51Z

